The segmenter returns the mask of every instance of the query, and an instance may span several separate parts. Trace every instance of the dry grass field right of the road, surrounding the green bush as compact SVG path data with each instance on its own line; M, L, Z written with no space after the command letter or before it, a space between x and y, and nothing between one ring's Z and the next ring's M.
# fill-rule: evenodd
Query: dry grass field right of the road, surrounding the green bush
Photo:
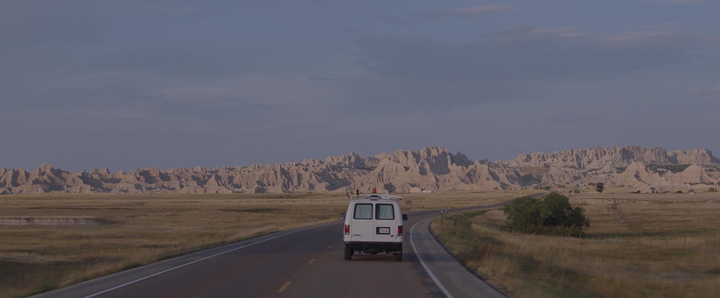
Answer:
M611 190L612 191L612 190ZM579 194L584 238L507 232L502 209L431 228L513 297L717 297L720 194Z

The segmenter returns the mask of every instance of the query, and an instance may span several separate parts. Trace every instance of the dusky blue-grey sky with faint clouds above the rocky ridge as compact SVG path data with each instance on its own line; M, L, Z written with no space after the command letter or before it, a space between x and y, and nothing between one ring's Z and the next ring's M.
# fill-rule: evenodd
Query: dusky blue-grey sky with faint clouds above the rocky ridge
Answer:
M3 1L0 166L720 150L720 3Z

